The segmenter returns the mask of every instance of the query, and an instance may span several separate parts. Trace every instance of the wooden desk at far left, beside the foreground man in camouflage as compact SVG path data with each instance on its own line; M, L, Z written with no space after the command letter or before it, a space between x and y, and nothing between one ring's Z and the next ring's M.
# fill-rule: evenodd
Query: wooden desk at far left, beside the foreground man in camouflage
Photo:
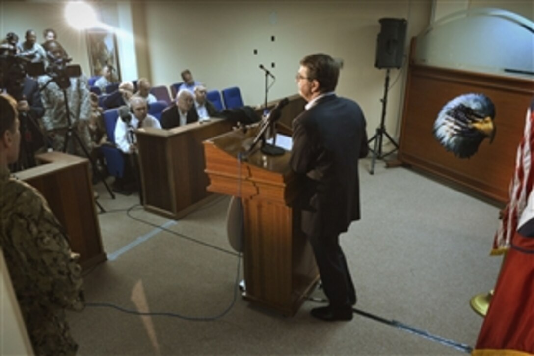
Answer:
M62 152L46 152L35 158L40 166L15 175L45 197L67 231L70 249L80 253L84 269L105 261L89 160Z

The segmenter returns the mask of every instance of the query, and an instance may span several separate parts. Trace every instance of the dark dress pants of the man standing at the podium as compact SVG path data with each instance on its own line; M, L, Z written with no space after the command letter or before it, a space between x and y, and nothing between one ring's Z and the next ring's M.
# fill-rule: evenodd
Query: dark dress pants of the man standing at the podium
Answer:
M326 297L332 308L351 307L356 303L347 260L339 245L339 234L308 235Z

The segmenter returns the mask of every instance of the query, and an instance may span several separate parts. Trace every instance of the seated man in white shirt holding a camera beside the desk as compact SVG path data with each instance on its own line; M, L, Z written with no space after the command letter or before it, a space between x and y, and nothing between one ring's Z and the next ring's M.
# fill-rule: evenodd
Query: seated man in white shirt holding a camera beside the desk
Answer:
M115 143L124 154L124 161L128 163L124 165L123 179L113 184L114 188L119 191L138 181L137 140L134 131L142 127L161 129L158 119L148 114L148 106L144 98L133 96L129 103L130 107L124 105L119 108L120 119L117 120L115 126Z

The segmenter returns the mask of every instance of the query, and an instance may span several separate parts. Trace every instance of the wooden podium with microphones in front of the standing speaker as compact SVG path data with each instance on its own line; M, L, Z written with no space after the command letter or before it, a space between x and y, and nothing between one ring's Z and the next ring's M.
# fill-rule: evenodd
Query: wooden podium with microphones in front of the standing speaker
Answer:
M208 190L242 198L245 221L244 297L284 315L294 315L319 280L315 258L300 229L300 211L290 207L299 180L289 152L246 161L238 157L255 129L235 130L204 142Z

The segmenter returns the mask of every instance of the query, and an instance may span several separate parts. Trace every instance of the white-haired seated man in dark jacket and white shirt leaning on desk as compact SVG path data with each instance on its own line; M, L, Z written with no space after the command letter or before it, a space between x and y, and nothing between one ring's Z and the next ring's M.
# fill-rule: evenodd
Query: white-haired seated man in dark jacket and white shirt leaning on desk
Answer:
M199 115L194 103L195 98L191 91L187 89L178 91L174 104L163 110L161 114L161 126L165 129L170 129L198 121Z

